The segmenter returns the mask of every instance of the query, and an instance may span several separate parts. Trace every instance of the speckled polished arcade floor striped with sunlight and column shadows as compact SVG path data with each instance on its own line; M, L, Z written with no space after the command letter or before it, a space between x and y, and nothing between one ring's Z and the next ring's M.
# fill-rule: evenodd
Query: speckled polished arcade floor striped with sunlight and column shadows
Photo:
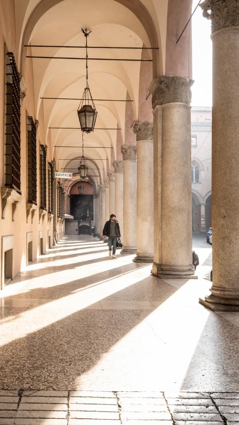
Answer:
M66 237L0 292L0 388L238 392L239 314L198 304L210 286L199 249L197 280L165 281L96 238Z

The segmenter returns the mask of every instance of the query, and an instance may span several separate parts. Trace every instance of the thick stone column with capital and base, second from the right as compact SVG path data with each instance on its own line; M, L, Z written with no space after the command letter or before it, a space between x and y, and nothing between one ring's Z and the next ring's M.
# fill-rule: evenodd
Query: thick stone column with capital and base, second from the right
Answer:
M192 188L190 87L192 80L161 76L152 93L154 134L154 263L162 278L190 278Z

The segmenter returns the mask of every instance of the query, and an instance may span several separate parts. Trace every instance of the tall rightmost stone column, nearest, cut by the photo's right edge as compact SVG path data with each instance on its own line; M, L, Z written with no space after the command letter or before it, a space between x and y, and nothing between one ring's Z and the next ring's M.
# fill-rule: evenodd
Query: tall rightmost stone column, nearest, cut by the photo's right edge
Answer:
M212 30L212 310L239 311L239 3L207 0ZM210 13L209 13L210 11Z

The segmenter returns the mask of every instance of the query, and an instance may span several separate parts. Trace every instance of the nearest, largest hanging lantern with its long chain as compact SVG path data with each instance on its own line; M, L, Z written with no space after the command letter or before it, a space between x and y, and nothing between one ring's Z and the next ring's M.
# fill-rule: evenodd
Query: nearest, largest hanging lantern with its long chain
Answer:
M95 121L97 117L97 111L93 102L90 87L88 84L88 54L87 54L87 37L91 31L82 30L86 37L86 88L83 92L80 105L77 109L78 118L80 121L81 130L85 133L91 133L94 131Z

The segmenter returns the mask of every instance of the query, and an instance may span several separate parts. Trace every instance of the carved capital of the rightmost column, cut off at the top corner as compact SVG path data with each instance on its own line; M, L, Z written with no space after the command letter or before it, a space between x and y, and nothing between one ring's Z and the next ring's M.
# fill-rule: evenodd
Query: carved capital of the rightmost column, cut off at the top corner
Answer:
M211 19L211 32L239 26L239 0L205 0L200 7L203 16Z

